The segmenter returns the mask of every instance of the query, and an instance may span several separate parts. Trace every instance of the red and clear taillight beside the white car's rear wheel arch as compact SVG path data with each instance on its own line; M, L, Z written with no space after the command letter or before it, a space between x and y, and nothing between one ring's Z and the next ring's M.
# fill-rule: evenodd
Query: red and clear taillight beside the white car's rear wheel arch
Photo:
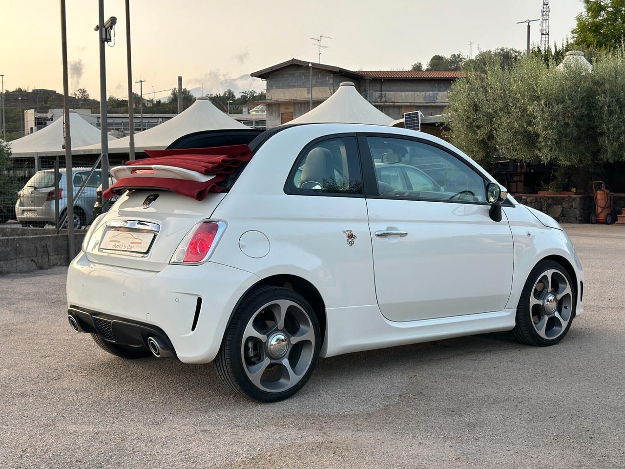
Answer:
M201 264L208 260L226 223L223 221L201 221L189 230L176 248L172 264Z

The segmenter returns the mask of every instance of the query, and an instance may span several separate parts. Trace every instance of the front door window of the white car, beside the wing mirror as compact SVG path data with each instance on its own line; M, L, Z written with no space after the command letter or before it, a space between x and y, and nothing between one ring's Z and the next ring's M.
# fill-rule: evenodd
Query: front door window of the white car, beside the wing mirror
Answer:
M392 137L368 137L381 196L415 199L486 201L484 178L436 146ZM399 173L402 178L389 178Z

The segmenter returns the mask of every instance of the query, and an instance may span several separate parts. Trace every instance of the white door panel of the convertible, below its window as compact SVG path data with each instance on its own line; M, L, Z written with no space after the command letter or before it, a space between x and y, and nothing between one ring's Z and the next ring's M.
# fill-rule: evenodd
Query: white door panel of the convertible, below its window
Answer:
M505 308L512 285L512 235L489 206L367 199L377 302L391 321L488 313ZM406 236L378 238L376 231Z

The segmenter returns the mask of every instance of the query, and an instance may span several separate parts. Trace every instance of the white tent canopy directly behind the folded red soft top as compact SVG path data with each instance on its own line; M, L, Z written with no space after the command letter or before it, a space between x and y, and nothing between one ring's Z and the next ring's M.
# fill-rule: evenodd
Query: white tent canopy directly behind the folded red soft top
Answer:
M135 122L139 116L135 114ZM178 116L143 132L134 135L135 151L143 149L167 148L174 140L193 132L217 129L249 129L212 105L208 98L201 96L195 103ZM130 137L119 138L109 144L109 153L128 153ZM100 145L76 148L76 154L100 153Z

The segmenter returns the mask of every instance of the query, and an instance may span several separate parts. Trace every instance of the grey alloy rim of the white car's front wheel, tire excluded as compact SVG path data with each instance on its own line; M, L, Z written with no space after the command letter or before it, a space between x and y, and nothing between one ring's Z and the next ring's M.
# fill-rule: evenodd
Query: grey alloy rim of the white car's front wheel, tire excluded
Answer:
M532 325L544 339L553 340L571 321L573 293L564 274L556 269L544 271L534 283L529 298Z

